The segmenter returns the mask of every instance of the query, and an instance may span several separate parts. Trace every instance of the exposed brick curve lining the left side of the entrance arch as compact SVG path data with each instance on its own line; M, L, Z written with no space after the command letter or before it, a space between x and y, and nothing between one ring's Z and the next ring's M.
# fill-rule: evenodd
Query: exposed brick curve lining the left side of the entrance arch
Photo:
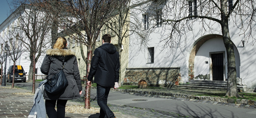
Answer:
M202 39L200 39L199 41L196 42L196 44L194 45L194 47L192 48L190 55L189 55L189 59L188 59L188 76L189 76L189 80L193 80L194 79L194 64L195 64L195 57L196 57L196 53L198 51L198 49L208 40L212 39L212 38L222 38L221 35L215 34L215 35L207 35L205 37L203 37Z

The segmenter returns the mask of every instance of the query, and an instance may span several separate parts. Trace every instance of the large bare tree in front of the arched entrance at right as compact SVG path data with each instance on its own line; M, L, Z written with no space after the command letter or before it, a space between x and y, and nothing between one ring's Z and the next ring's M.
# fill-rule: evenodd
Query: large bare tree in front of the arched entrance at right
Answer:
M195 23L202 25L201 34L210 32L221 32L223 42L227 51L228 59L228 89L226 96L238 97L236 86L236 64L233 43L229 35L229 21L233 21L239 35L244 35L246 41L255 40L252 26L255 24L255 0L185 0L185 1L153 1L147 2L148 15L157 15L156 11L161 9L160 22L163 24L161 41L162 48L183 48L186 46L187 33L195 35L193 26ZM145 9L144 9L145 10ZM154 20L156 17L154 18ZM150 19L149 19L150 20ZM157 23L148 24L148 31L156 32ZM248 33L249 32L249 33ZM193 36L194 37L194 36ZM183 40L184 44L181 44ZM255 42L255 41L253 41ZM252 44L253 45L253 44Z

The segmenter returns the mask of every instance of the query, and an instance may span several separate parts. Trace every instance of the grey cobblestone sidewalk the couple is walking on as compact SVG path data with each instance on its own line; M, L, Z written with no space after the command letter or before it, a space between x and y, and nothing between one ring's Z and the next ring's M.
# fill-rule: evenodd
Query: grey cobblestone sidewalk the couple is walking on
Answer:
M32 106L34 95L18 95L16 92L31 92L26 89L0 86L0 118L27 118ZM68 100L67 106L83 105L84 100ZM91 102L92 107L98 107L97 101ZM178 114L152 111L133 107L109 105L117 118L182 118ZM66 118L98 118L99 114L66 113ZM190 117L186 117L190 118ZM191 117L192 118L192 117Z

